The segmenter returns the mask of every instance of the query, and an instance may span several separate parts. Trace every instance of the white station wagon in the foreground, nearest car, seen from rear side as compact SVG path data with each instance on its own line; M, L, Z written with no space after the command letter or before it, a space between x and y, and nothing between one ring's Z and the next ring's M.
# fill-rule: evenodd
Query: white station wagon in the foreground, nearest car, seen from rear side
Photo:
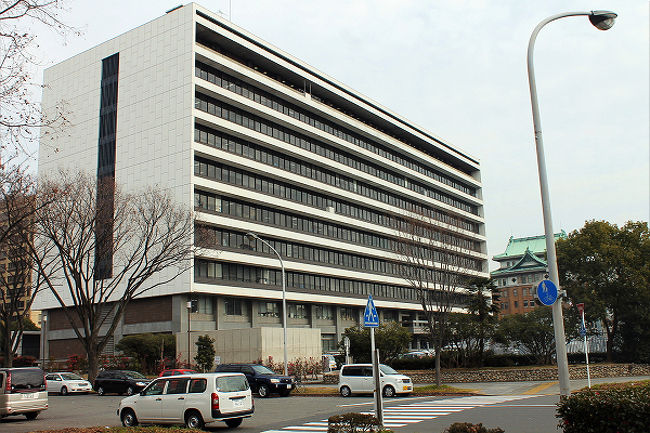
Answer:
M185 424L201 429L225 421L238 427L255 406L241 373L196 373L160 377L139 394L122 399L117 415L125 427L138 423Z

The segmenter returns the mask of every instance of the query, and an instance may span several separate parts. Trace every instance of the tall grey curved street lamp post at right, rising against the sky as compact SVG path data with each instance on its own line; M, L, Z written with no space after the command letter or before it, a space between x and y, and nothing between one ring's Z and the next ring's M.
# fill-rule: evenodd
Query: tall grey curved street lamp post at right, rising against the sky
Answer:
M535 88L535 71L533 69L533 48L537 34L546 24L560 18L573 16L587 16L589 21L599 30L609 30L614 25L617 15L609 11L591 12L566 12L553 15L540 22L530 36L528 43L528 83L530 85L530 100L533 108L533 126L535 128L535 144L537 148L537 169L539 171L539 188L542 195L542 212L544 214L544 233L546 236L546 252L548 258L549 277L553 283L560 287L560 277L557 268L555 253L555 235L553 234L553 221L551 219L551 201L548 193L548 180L546 177L546 160L544 158L544 143L542 140L542 125L537 104L537 90ZM569 363L566 355L564 338L564 321L562 318L562 300L558 297L553 304L553 328L555 331L555 350L557 354L558 376L560 379L560 395L569 395Z

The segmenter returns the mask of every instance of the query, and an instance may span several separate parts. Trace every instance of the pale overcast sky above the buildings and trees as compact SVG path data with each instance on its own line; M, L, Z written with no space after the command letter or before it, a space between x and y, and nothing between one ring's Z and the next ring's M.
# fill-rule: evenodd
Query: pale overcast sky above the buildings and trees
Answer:
M649 3L646 0L203 0L198 2L481 161L490 257L544 233L526 49L546 26L535 72L555 231L586 220L648 221ZM83 34L39 40L54 64L163 15L179 0L72 0ZM232 4L232 10L230 10ZM491 262L491 268L494 263Z

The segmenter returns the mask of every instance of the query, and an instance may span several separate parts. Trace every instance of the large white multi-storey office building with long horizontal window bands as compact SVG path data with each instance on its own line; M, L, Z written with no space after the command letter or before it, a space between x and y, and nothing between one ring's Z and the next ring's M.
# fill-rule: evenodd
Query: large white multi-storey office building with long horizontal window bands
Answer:
M422 307L395 247L407 210L440 228L455 221L440 250L453 247L457 272L488 276L477 159L197 4L47 69L44 82L44 108L65 101L71 126L43 137L41 173L158 185L207 228L191 272L134 300L116 342L182 335L190 299L193 332L281 327L279 261L248 232L283 258L288 328L318 330L323 351L362 321L369 294L418 345ZM49 356L81 352L59 305L37 302Z

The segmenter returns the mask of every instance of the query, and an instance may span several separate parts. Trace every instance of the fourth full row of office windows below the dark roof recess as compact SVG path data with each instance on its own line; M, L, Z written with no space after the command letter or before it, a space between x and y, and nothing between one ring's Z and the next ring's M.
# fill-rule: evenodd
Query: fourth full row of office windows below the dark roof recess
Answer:
M404 226L404 221L402 219L390 216L385 213L377 212L374 209L365 206L357 206L347 201L338 200L324 194L294 186L287 182L273 180L266 176L251 173L238 168L229 167L225 164L220 164L205 158L195 157L194 174L197 176L204 176L220 182L241 186L254 191L259 191L265 194L306 204L318 209L333 208L334 211L336 211L338 214L347 215L352 218L361 219L364 221L372 222L374 224L384 225L386 227L395 227L397 229L398 227ZM216 210L216 208L211 208L209 204L208 207L206 207L201 203L195 203L195 206L208 210ZM478 232L478 227L476 224L469 221L460 220L448 214L444 214L436 209L418 206L416 209L414 209L414 212L418 212L419 214L438 221L458 226L459 228L465 230ZM405 226L402 228L406 229Z

